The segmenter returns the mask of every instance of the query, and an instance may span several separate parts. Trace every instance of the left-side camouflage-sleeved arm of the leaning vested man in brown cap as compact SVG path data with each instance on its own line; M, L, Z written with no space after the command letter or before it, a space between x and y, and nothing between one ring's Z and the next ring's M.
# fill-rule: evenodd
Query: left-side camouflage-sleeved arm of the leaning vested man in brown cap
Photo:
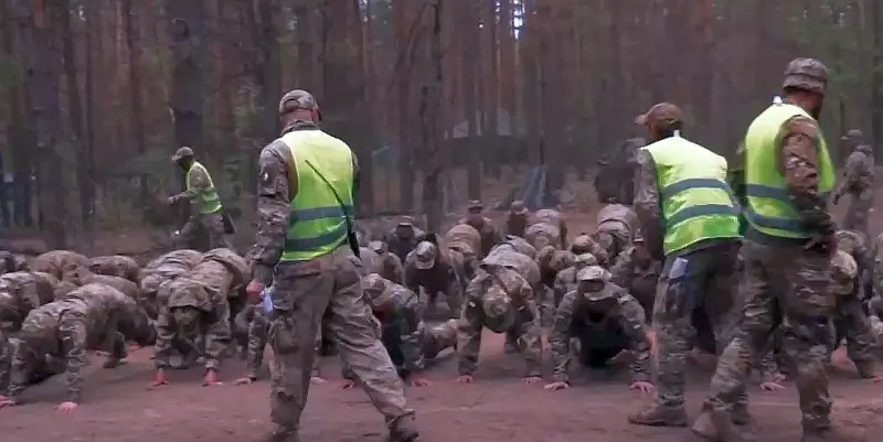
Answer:
M662 241L662 211L657 185L656 162L649 152L638 151L638 171L635 174L635 214L638 216L643 240L650 254L657 258L664 256Z

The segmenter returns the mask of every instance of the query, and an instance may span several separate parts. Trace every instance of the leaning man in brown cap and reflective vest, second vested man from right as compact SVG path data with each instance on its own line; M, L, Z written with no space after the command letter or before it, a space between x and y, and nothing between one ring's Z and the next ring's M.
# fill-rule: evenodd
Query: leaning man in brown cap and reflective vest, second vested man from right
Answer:
M647 128L650 144L638 151L635 212L646 247L663 260L663 268L652 313L659 359L656 403L628 419L685 427L687 355L700 334L704 339L713 333L722 349L736 317L737 208L726 182L726 160L681 137L683 115L677 106L658 104L636 122ZM693 317L702 315L708 321L695 324L713 324L713 330L694 326Z

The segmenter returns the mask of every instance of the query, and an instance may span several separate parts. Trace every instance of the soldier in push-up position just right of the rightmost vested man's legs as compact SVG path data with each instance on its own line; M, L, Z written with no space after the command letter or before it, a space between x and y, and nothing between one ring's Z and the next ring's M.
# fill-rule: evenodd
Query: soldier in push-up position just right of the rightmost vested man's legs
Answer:
M837 314L834 315L833 353L847 339L847 355L855 364L855 370L864 379L874 378L873 332L871 321L859 298L859 267L852 256L838 249L831 260L831 280L833 293L837 295ZM830 363L831 354L828 354Z

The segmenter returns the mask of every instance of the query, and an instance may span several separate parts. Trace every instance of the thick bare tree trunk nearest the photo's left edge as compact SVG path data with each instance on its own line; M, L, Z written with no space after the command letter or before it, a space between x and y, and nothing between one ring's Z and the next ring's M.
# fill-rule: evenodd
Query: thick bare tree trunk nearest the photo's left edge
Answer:
M40 222L49 234L47 245L63 249L66 247L64 227L67 195L62 185L61 158L55 151L55 144L62 138L58 100L62 61L60 51L52 46L53 26L46 0L15 0L14 6L19 41L25 54L31 118L36 128L36 153L41 159L36 163Z

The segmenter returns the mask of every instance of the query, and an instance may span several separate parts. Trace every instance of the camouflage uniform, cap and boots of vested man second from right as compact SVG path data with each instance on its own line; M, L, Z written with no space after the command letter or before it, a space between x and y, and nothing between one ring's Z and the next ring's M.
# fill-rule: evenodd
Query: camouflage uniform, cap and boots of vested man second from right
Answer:
M674 105L659 104L636 122L652 130L673 132L682 125L683 115ZM637 163L634 203L639 230L650 256L663 259L663 266L652 311L652 326L659 344L656 403L630 414L628 420L642 425L685 427L684 370L694 337L713 333L716 349L722 349L738 320L735 289L740 241L734 231L735 237L705 239L666 254L663 190L659 187L657 165L645 149L638 151ZM695 316L702 315L712 330L695 325ZM743 416L747 413L744 387L738 392L738 414Z

